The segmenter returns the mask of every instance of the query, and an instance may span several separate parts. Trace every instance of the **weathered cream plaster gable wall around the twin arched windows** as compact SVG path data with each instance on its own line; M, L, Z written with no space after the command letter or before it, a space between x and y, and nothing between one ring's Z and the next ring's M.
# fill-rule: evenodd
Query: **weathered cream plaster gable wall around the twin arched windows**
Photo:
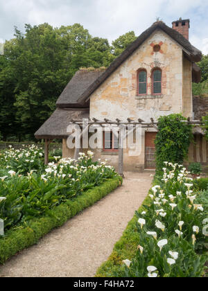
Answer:
M161 50L153 52L154 44ZM151 71L162 69L162 96L151 95ZM137 70L148 72L148 96L137 96ZM182 112L182 48L157 30L121 67L103 82L90 99L90 116L96 118L142 118Z

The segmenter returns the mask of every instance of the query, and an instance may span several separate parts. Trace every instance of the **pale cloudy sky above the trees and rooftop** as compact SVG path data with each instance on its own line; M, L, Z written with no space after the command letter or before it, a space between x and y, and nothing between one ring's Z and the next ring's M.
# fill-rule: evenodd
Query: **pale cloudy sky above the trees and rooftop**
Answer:
M110 42L128 31L139 36L157 17L168 26L190 19L189 41L208 54L208 0L0 0L0 42L11 39L14 26L44 22L53 27L82 24L93 37Z

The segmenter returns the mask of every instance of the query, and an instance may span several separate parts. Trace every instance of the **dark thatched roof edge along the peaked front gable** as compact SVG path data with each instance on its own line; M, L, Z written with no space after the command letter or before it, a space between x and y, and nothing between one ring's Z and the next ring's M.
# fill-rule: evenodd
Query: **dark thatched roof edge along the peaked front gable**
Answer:
M198 48L192 46L191 43L175 29L166 26L166 24L162 21L157 21L150 26L150 28L145 30L144 33L141 33L135 42L132 42L132 44L130 44L130 46L128 46L128 48L126 48L125 51L123 51L123 53L121 53L121 55L119 55L119 57L116 58L112 64L110 64L110 67L108 67L107 70L92 83L92 85L88 88L86 87L86 90L83 92L82 96L78 98L78 103L85 104L89 99L89 96L157 29L163 30L164 33L180 44L184 49L184 54L189 60L192 62L199 62L201 60L202 52L199 51Z

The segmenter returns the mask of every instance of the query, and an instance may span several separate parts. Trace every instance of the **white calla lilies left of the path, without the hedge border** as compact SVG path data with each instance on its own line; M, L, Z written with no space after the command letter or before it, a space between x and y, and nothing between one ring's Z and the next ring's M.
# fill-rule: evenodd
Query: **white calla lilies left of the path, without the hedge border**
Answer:
M4 229L25 225L54 207L117 177L114 168L94 163L92 152L80 153L78 161L60 159L45 168L42 152L32 146L1 155L0 218Z

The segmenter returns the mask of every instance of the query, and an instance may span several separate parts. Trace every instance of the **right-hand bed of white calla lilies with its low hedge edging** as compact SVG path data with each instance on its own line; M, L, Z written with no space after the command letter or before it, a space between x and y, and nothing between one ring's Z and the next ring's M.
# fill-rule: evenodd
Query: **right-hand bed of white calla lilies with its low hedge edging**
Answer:
M96 276L202 276L208 192L193 192L183 166L166 163L163 170L146 199L148 206L137 211Z

